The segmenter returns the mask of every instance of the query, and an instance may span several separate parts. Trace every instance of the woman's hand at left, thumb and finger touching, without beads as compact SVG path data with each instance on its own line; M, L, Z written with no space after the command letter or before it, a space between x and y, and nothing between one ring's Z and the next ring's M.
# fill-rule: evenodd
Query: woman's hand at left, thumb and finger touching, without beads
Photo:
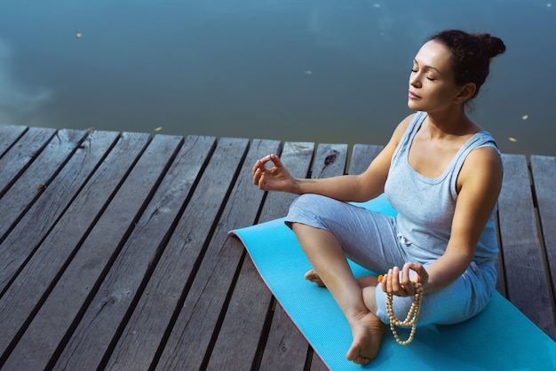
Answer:
M266 167L267 162L272 162L272 168ZM253 166L253 184L263 191L292 192L294 183L295 179L275 154L266 155Z

